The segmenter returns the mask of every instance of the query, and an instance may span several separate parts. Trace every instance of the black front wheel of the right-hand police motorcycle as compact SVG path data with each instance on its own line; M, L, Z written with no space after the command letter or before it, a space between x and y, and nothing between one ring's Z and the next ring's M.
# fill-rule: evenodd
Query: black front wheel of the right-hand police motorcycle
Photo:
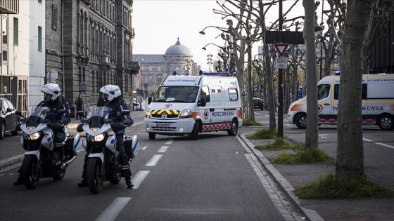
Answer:
M98 194L104 182L103 163L96 157L87 162L87 186L90 192Z

